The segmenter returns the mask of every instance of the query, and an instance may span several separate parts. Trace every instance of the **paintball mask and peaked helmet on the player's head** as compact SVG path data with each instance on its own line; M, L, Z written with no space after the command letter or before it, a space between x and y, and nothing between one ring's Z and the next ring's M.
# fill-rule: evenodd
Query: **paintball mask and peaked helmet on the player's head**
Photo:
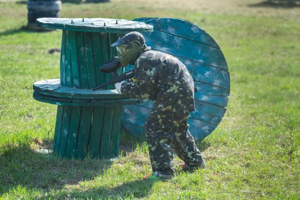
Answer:
M145 38L141 33L136 31L129 32L122 38L118 38L111 46L116 46L118 60L122 66L129 64L142 49L147 47Z

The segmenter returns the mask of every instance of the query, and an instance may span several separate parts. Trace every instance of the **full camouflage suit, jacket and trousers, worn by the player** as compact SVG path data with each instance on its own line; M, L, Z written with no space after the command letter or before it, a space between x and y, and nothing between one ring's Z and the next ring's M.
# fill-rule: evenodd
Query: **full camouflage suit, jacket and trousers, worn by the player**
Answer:
M144 124L152 174L169 178L174 170L173 152L187 167L203 163L201 153L188 131L189 112L194 111L193 80L177 58L150 47L135 60L136 82L121 85L131 98L149 98L153 108Z

